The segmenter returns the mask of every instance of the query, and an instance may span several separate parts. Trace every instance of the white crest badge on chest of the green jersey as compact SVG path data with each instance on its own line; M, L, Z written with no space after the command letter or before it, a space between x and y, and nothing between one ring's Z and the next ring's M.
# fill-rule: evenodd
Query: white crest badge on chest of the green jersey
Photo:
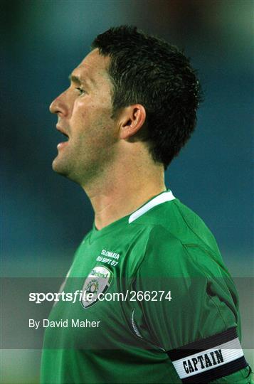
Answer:
M113 279L113 272L107 267L97 266L94 267L88 277L85 279L83 285L83 298L82 305L84 308L90 308L99 301L99 295L102 297L103 294L110 287ZM88 295L89 294L89 295Z

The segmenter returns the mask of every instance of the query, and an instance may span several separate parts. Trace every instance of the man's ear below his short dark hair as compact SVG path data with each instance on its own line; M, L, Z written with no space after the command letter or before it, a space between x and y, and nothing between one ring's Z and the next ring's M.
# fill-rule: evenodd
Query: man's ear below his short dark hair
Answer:
M145 119L146 110L143 105L135 104L124 108L120 116L120 139L129 139L136 134Z

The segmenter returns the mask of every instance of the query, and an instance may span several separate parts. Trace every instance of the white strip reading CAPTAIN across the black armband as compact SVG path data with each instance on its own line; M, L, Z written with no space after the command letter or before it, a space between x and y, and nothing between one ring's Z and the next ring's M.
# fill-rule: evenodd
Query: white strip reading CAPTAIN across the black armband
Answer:
M184 366L186 369L189 370L189 363L188 360L191 363L191 366L194 367L194 363L192 361L193 358L197 358L198 356L202 356L203 358L203 365L206 366L206 361L204 355L208 355L209 360L211 363L213 363L212 357L210 355L211 352L218 351L218 349L221 349L221 353L223 356L223 362L220 363L216 361L217 364L214 364L213 366L208 366L206 368L201 367L201 363L196 364L197 370L194 370L194 372L186 373L186 370L184 369ZM215 359L216 354L214 353ZM243 350L240 346L240 341L238 338L234 338L231 341L227 341L226 343L223 343L219 346L206 349L206 351L201 351L199 353L195 353L194 355L186 356L186 358L180 358L179 360L173 361L174 368L176 368L176 372L179 375L179 378L189 378L193 375L198 375L199 373L206 372L206 370L211 370L213 368L217 368L219 366L223 366L226 363L230 363L231 361L236 360L237 358L240 358L243 356ZM217 360L217 359L216 359ZM185 364L184 364L185 362Z

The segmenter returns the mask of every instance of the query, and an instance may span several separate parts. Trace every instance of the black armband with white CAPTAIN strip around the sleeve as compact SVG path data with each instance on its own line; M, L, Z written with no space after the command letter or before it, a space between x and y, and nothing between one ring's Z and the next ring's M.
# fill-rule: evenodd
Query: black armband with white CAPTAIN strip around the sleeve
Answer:
M236 328L166 353L183 383L208 383L248 366Z

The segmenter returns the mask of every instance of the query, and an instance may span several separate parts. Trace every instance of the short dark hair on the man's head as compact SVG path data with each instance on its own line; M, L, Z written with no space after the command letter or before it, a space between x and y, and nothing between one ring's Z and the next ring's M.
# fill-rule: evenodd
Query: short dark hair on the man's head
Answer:
M201 88L189 58L176 46L132 26L98 35L92 42L95 48L110 57L113 117L122 107L143 105L147 119L142 139L154 161L166 169L196 126Z

